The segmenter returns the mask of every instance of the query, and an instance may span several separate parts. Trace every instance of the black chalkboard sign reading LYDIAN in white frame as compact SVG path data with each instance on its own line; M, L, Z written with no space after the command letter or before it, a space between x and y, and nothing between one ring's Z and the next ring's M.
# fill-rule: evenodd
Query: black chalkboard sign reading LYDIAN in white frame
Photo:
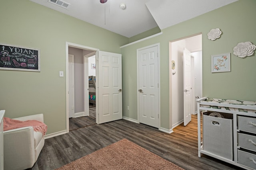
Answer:
M40 71L40 50L0 44L0 69Z

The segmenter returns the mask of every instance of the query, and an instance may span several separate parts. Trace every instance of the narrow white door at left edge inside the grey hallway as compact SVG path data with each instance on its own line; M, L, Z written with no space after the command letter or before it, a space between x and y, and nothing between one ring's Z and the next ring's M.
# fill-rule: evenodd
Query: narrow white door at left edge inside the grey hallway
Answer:
M69 118L74 117L74 55L68 55L68 101Z

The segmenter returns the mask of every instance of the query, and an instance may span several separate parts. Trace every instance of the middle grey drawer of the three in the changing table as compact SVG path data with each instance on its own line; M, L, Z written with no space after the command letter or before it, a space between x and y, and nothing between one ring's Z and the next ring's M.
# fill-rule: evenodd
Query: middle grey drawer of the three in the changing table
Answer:
M256 136L238 133L238 147L256 151Z

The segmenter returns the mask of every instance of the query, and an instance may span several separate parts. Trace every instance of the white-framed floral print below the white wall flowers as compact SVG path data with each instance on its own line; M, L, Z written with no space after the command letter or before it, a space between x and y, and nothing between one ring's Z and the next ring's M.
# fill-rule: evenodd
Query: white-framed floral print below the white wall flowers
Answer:
M230 71L230 53L212 55L212 72Z

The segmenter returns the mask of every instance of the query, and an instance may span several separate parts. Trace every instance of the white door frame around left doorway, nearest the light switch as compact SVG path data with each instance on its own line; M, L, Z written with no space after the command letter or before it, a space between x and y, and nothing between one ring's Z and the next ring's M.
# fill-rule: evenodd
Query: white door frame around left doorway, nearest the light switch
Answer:
M83 49L83 50L90 50L90 51L95 51L96 54L96 65L98 64L98 53L99 53L99 49L96 48L92 48L92 47L87 47L84 45L79 45L79 44L75 44L75 43L70 43L70 42L66 42L66 133L69 132L69 99L68 99L68 47L74 47L74 48L78 48L78 49ZM97 67L96 67L96 76L98 74L97 71ZM97 84L97 83L96 83ZM97 96L98 94L98 88L96 88L96 98L98 98ZM98 102L96 100L96 106L98 105ZM98 123L98 109L96 107L96 123Z

